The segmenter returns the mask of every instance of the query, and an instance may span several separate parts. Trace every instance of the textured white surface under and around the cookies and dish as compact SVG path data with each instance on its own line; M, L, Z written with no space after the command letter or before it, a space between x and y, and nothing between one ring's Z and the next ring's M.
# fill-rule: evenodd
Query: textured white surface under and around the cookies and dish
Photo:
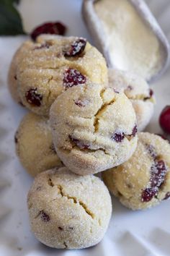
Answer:
M153 13L170 39L170 1L148 0ZM27 31L47 20L68 25L68 35L89 38L81 20L81 0L24 0L19 7ZM32 235L26 197L32 178L14 153L14 132L25 110L9 95L6 74L14 51L24 37L0 38L0 256L169 256L170 200L151 210L133 212L113 199L113 215L104 239L96 247L82 250L50 249ZM170 103L170 69L154 83L157 105L147 130L161 132L158 116Z

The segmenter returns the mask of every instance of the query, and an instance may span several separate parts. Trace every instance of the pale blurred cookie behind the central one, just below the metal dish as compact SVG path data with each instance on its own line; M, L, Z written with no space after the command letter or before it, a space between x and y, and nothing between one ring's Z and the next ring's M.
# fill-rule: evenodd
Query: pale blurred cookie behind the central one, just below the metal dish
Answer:
M153 116L155 103L153 90L146 80L136 74L109 69L109 86L125 93L135 109L138 131L145 129Z

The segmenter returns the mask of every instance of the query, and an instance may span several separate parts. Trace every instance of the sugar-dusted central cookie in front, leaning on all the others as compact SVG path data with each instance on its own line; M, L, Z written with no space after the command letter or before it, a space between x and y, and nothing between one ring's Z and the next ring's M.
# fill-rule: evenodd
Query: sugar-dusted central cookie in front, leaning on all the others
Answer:
M124 93L86 83L66 90L50 108L55 150L80 175L95 174L130 158L137 144L132 103Z

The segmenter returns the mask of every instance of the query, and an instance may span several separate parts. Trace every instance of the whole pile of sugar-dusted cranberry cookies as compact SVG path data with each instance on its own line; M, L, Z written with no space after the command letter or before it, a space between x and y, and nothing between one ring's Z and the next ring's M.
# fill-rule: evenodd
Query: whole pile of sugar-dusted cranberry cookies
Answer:
M169 197L170 145L137 135L153 114L152 90L134 74L108 71L84 38L25 42L12 60L9 90L31 111L15 142L36 176L27 204L40 242L69 249L100 242L112 213L107 187L133 209ZM100 171L107 187L93 175Z

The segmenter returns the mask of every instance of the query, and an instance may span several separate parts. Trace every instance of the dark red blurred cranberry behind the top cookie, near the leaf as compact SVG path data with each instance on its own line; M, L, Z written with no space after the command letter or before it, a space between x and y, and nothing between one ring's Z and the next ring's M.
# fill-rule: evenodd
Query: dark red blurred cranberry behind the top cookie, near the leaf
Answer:
M64 35L65 32L66 26L61 22L47 22L35 27L35 30L31 33L31 38L35 40L37 36L41 34Z

